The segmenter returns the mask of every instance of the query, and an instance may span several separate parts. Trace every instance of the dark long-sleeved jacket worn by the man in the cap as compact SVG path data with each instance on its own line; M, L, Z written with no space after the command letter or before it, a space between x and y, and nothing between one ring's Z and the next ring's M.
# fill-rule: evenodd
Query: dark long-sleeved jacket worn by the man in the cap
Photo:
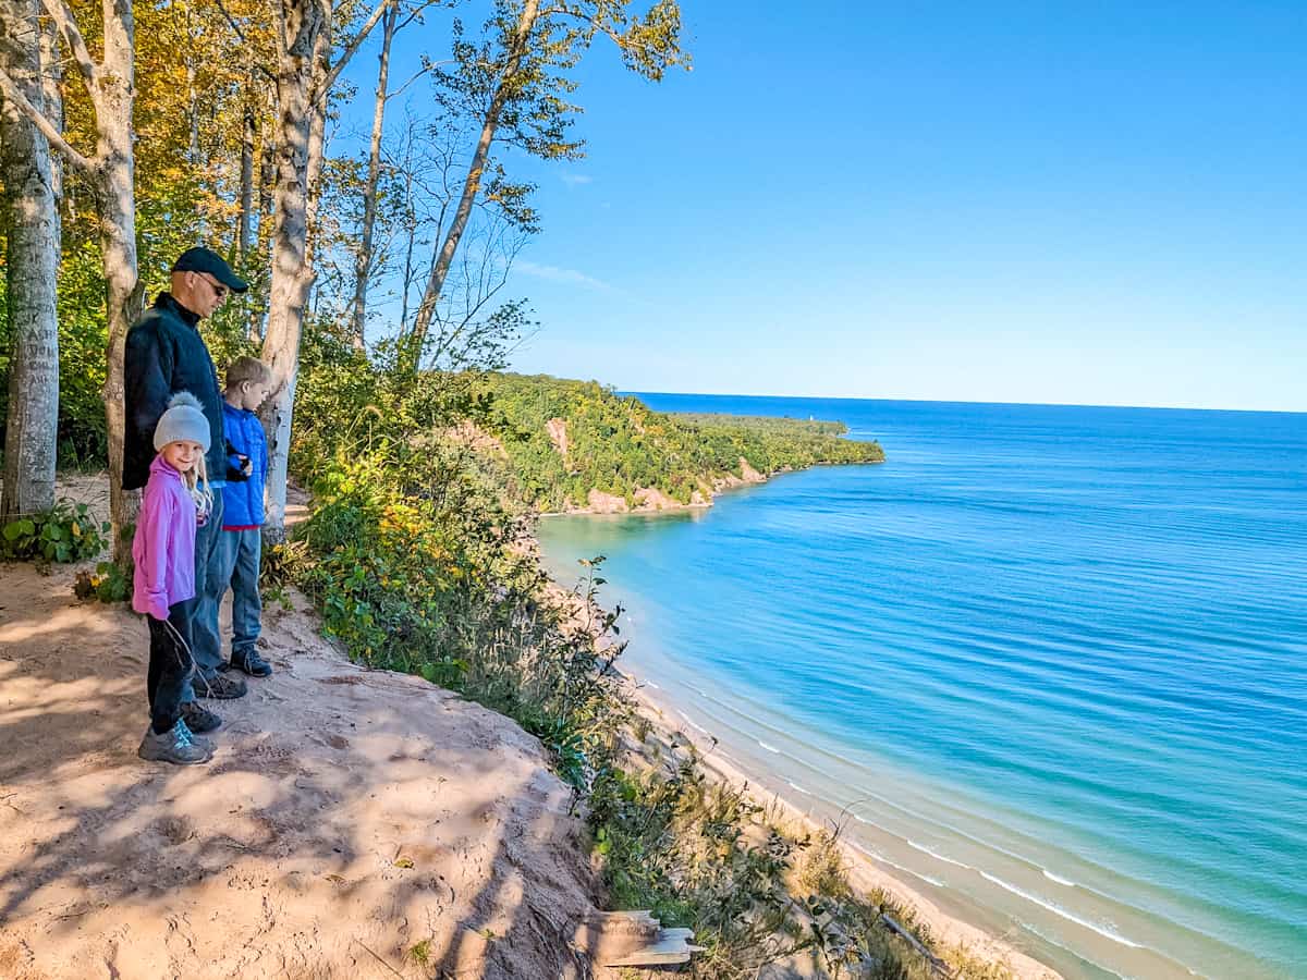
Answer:
M222 436L222 393L218 372L199 331L200 318L167 293L159 293L127 332L124 375L127 382L127 444L123 449L123 489L145 486L154 460L154 426L179 391L200 400L209 419L209 451L204 456L209 480L227 472Z

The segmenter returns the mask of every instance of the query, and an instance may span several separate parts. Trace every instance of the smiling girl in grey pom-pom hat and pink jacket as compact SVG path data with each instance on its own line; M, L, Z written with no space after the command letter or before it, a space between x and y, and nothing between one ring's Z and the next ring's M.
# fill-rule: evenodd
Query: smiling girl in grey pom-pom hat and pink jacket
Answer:
M182 694L195 670L182 604L195 596L195 528L213 510L204 472L209 431L199 400L188 392L174 395L154 429L158 456L150 464L132 541L132 608L145 614L150 627L145 682L150 727L137 754L179 766L213 757L213 745L193 734L182 719Z

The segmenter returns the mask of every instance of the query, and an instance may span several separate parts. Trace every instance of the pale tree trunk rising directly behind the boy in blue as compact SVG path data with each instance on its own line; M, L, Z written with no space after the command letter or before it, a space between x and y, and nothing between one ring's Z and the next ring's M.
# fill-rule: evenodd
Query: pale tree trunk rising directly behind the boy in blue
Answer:
M318 153L325 108L319 106L314 81L328 24L315 3L282 0L281 31L286 44L277 65L280 133L277 186L273 192L272 294L263 361L280 385L264 409L268 433L268 507L264 534L280 541L286 533L286 476L290 461L290 422L298 380L299 340L305 306L312 286L308 264L311 157L316 131ZM315 116L322 122L315 125ZM318 162L318 169L322 163Z

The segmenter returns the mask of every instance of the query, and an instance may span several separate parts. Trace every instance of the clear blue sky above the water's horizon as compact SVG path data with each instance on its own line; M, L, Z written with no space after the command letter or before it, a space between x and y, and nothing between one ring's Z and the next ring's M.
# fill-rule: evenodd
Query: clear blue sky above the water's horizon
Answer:
M518 370L1307 410L1307 4L682 13L693 72L596 47L587 158L515 162Z

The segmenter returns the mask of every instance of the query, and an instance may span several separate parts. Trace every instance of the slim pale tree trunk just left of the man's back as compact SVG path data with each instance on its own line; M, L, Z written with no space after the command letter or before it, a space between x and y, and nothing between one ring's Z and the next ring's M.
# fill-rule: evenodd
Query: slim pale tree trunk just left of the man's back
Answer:
M131 0L105 0L105 61L95 98L97 161L99 162L99 242L105 263L105 304L108 327L105 416L108 429L108 502L114 523L114 561L131 561L125 536L136 520L136 494L123 490L123 351L127 328L141 314L141 284L136 268L136 161L132 154L135 22Z

